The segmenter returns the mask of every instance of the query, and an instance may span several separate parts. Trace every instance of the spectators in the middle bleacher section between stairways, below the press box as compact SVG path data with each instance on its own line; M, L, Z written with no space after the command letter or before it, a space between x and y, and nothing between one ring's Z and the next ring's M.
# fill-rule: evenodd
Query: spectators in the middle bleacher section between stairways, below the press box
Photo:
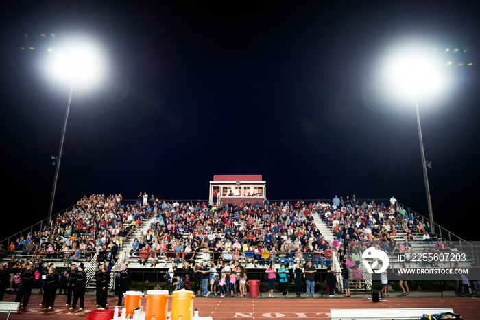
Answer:
M133 259L154 266L160 260L238 261L265 266L303 260L331 264L331 250L304 203L221 205L154 201L156 221L134 240ZM315 207L316 210L316 207Z

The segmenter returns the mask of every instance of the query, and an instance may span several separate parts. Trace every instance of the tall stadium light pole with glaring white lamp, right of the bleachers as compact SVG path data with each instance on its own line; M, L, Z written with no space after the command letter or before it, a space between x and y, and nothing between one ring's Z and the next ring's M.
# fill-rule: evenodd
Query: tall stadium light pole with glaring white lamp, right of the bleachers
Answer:
M412 100L415 102L427 206L431 229L435 232L418 99L434 96L440 92L444 85L444 74L442 72L444 67L442 68L442 64L440 60L437 60L437 57L430 54L428 50L421 48L407 48L401 53L395 52L394 56L387 61L385 68L387 71L387 82L393 86L392 88L396 91L396 94L399 94L402 98L407 98L410 102Z

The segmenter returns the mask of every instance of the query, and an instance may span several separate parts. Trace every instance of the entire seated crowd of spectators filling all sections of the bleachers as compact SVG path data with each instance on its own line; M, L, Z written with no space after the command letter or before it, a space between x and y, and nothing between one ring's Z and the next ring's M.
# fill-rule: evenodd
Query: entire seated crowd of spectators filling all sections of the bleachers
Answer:
M320 233L312 212L332 228L332 243ZM429 222L407 214L394 197L388 205L335 196L327 203L211 206L149 200L146 193L139 194L135 204L125 205L121 194L93 194L42 230L12 241L3 254L25 253L34 261L57 259L66 266L88 261L98 252L100 262L112 264L132 229L151 214L155 222L128 248L132 259L150 266L160 260L176 264L204 260L217 265L242 260L254 267L270 262L293 267L296 262L311 261L319 268L331 265L333 253L352 266L358 264L361 251L372 245L388 252L412 253L409 241L416 235L426 241L438 240ZM394 239L397 231L407 235L401 243ZM448 248L446 243L437 246Z

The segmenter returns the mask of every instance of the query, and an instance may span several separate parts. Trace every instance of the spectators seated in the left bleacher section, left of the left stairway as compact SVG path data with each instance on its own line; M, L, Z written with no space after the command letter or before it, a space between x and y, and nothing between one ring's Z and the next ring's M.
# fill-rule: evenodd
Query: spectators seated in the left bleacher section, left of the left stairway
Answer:
M143 203L125 205L121 194L84 196L40 231L10 242L0 254L26 256L36 264L60 260L67 266L79 260L88 262L98 252L99 262L113 264L132 229L138 228L151 210Z

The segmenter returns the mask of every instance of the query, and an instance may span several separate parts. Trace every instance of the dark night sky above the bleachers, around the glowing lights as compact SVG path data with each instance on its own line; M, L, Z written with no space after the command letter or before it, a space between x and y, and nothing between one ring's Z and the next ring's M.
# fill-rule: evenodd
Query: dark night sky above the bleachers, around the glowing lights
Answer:
M15 222L3 238L47 218L69 84L43 64L47 47L81 37L108 76L74 87L56 212L94 193L206 199L215 174L261 174L272 200L395 196L427 216L413 100L376 78L389 47L415 41L459 48L420 119L435 222L479 240L466 222L478 210L480 12L419 2L3 3L3 216Z

